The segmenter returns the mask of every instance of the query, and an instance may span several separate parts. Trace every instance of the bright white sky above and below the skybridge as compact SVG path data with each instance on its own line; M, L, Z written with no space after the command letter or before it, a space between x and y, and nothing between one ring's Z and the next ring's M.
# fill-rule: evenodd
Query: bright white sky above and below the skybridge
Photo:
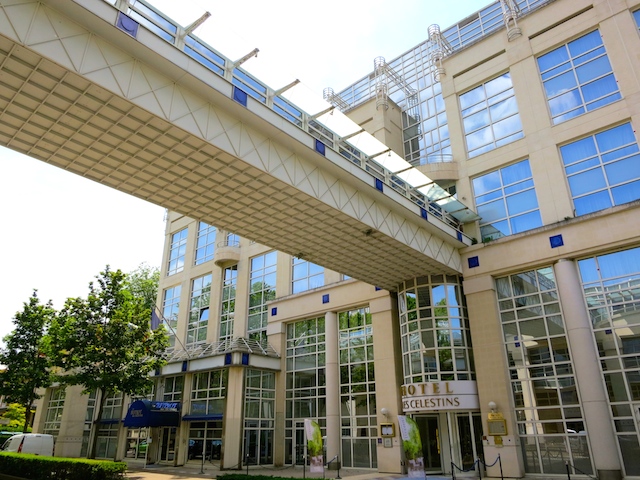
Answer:
M155 0L182 25L207 9L195 34L273 88L300 79L304 95L322 98L368 75L375 57L390 61L488 0ZM311 112L314 113L314 112ZM34 288L61 308L85 296L105 265L126 272L146 262L160 266L164 209L0 147L0 337Z

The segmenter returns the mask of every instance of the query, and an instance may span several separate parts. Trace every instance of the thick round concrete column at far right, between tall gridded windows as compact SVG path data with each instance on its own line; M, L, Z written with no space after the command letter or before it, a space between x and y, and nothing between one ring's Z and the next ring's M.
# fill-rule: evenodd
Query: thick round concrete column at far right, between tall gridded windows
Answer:
M578 268L572 260L562 259L555 264L554 270L593 462L598 478L616 480L622 478L617 440Z

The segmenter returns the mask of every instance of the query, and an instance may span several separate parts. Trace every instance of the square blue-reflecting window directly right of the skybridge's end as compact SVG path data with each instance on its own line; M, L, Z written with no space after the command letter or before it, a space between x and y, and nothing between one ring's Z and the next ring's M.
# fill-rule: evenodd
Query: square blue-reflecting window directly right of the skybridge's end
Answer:
M529 160L473 179L483 241L542 225Z

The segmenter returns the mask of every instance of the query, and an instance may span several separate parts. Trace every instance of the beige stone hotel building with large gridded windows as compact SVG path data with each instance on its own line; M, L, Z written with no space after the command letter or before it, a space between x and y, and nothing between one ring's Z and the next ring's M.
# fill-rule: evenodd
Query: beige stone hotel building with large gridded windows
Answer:
M499 28L454 49L437 88L422 64L424 74L406 73L418 60L390 62L415 88L441 91L434 105L446 113L437 119L442 148L429 150L416 136L409 160L414 146L400 140L409 136L403 122L417 120L407 120L406 99L376 109L370 92L345 112L484 212L464 225L476 244L460 250L458 277L425 271L390 292L221 229L200 262L207 226L169 213L158 306L174 322L174 353L155 375L153 399L180 402L183 420L150 429L146 455L200 461L205 439L205 456L221 468L299 464L311 419L326 460L403 473L413 460L400 434L406 415L420 431L427 474L475 465L498 477L500 457L513 478L564 476L565 462L600 478L640 475L640 2L525 3L533 6L517 18L520 35L509 39ZM560 73L545 73L547 60ZM492 100L496 79L502 90ZM440 108L424 105L420 135L430 128L429 109ZM635 137L621 140L622 129ZM590 166L571 163L587 151L576 146L583 140L594 145L581 160ZM580 177L581 168L604 173ZM491 182L499 185L486 187ZM610 204L599 204L605 197ZM206 287L200 296L197 281ZM476 389L469 404L458 395L465 382ZM408 395L409 385L424 395ZM47 423L50 398L38 409L39 431L55 428ZM81 453L82 398L61 410L58 454ZM491 421L500 416L506 431L496 433ZM386 423L395 435L381 434ZM112 440L103 452L139 455L146 434L105 429Z

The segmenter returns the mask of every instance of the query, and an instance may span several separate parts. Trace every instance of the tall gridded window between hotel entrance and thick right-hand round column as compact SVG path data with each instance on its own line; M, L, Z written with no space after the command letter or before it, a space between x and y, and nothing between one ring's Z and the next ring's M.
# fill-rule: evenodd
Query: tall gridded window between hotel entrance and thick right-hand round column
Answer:
M518 434L527 473L592 473L553 268L496 279Z

